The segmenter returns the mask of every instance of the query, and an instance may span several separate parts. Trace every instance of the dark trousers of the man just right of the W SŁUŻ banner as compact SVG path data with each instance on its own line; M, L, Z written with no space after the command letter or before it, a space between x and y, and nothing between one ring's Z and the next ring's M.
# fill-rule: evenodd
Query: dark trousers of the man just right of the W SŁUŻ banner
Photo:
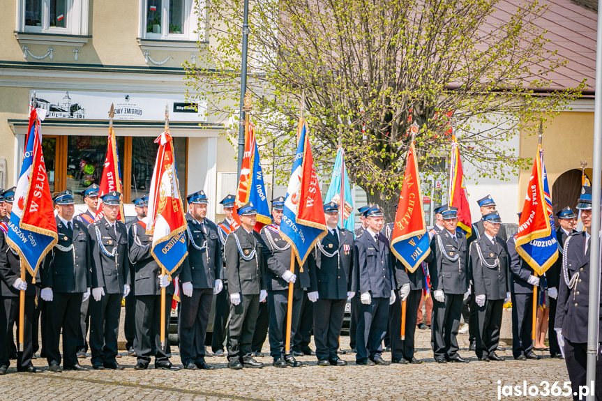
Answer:
M46 302L45 352L48 365L61 365L59 349L61 330L63 333L63 366L77 365L77 344L80 343L81 292L54 292L52 301Z

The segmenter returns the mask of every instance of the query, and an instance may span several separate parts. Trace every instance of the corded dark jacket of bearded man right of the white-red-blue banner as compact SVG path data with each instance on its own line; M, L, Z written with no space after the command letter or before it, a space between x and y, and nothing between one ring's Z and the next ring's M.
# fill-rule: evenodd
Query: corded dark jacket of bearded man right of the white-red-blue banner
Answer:
M208 218L204 219L205 229L190 214L186 215L188 232L188 263L180 273L181 282L192 282L193 288L213 288L216 279L223 279L222 244L218 227ZM200 248L197 249L197 248Z

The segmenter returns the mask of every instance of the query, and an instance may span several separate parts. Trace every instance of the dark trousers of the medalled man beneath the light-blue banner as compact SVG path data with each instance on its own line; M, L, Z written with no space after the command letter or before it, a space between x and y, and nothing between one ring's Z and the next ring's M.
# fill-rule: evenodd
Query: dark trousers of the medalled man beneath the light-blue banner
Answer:
M313 305L313 338L318 360L337 358L347 299L318 298Z

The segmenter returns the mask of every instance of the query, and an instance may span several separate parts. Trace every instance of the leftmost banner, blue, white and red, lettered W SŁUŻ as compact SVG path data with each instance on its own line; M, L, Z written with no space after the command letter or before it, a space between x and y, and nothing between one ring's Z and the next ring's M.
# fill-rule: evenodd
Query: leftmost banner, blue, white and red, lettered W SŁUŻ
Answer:
M40 262L57 243L57 238L57 222L42 154L41 124L37 110L31 109L6 241L13 252L19 254L29 273L36 277Z

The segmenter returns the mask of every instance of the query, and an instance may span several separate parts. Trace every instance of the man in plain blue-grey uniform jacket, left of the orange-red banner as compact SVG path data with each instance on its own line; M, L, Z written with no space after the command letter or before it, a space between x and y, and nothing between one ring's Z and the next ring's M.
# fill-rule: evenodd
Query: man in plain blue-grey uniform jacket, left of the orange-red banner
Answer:
M382 340L389 321L389 305L395 301L393 260L389 241L380 233L382 210L378 205L364 212L366 231L355 241L352 291L359 296L356 331L356 364L389 365L382 358Z

